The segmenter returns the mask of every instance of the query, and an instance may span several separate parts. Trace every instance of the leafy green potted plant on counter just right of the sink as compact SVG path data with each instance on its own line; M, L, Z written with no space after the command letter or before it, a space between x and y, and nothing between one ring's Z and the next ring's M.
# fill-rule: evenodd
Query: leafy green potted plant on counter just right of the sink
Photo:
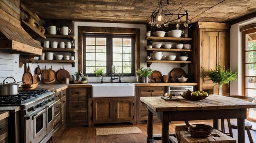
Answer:
M148 77L150 77L153 74L153 70L152 68L145 68L143 66L141 66L141 68L139 68L137 70L137 73L139 74L139 76L137 76L137 81L140 83L148 83Z

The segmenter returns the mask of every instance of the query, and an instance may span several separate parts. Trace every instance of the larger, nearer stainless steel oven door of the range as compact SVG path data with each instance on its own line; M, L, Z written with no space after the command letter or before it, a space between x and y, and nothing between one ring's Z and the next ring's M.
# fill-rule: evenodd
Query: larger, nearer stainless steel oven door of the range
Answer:
M34 124L33 143L39 143L46 136L46 109L37 112L31 119Z

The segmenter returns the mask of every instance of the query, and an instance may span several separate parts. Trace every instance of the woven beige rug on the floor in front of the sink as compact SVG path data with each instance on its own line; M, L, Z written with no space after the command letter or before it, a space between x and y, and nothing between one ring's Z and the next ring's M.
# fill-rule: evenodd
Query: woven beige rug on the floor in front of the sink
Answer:
M113 135L113 134L138 134L138 133L142 133L138 127L96 128L96 136Z

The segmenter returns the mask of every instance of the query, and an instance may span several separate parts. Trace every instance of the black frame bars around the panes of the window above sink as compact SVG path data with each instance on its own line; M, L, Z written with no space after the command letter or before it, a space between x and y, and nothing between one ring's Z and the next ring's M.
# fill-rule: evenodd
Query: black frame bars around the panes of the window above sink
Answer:
M106 38L106 56L107 56L107 58L106 58L106 62L107 62L107 64L106 64L106 69L107 69L107 71L106 71L106 74L107 75L110 75L110 69L111 69L111 66L112 66L112 62L113 62L113 56L112 56L112 54L113 54L113 49L112 48L110 48L110 47L112 47L113 46L113 44L112 44L112 39L113 38L130 38L131 40L132 40L132 45L131 45L131 48L132 48L132 51L131 51L131 55L132 55L132 67L131 67L131 73L122 73L124 76L135 76L136 75L136 71L135 71L135 35L128 35L128 34L126 34L126 35L124 35L124 34L119 34L119 35L117 35L117 34L99 34L99 33L83 33L83 41L85 41L85 38L86 37L104 37L104 38ZM86 53L86 49L85 49L85 42L83 42L83 54L85 54ZM95 54L96 54L96 51L95 51ZM123 51L122 51L122 53L121 54L123 54ZM108 62L108 61L111 61L111 62ZM83 71L85 71L85 67L86 67L86 64L85 64L85 62L86 62L86 59L85 58L83 58ZM126 62L126 61L121 61L121 62ZM95 74L94 73L86 73L87 75L89 75L89 76L94 76ZM121 73L120 73L121 74Z

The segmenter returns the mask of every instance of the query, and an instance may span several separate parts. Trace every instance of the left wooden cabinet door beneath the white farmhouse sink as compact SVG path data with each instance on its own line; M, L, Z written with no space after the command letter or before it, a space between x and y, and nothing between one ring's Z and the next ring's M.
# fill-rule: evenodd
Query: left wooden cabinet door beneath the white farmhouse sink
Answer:
M114 101L112 99L92 101L92 122L104 123L114 121Z

